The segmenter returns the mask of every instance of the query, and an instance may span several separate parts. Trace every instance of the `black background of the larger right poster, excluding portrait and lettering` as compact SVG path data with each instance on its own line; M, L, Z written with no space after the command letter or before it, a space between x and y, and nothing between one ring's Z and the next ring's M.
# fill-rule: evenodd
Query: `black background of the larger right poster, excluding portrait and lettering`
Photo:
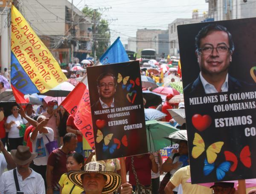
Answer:
M239 19L239 20L226 20L212 22L218 23L225 26L227 30L232 34L233 41L235 45L235 50L232 55L232 63L229 67L229 74L233 77L246 81L250 84L255 84L253 76L256 75L256 18L250 19ZM180 62L182 68L182 80L183 88L189 83L193 82L199 75L200 69L198 66L198 61L195 55L195 36L201 30L202 27L208 25L209 23L196 23L177 26L178 38L179 38L179 48L180 48ZM189 32L189 33L188 33ZM250 75L250 70L252 69L253 75ZM256 91L256 87L243 88L241 92ZM227 101L220 101L220 95L227 94ZM241 102L251 102L255 104L256 98L246 99L246 100L230 100L231 92L226 93L213 93L204 96L215 96L217 102L214 103L203 103L203 104L190 104L189 98L197 98L200 100L200 95L190 95L184 93L185 107L186 107L186 127L188 132L188 143L189 143L189 161L191 166L191 180L192 183L202 183L202 182L218 182L227 180L241 180L241 179L252 179L256 178L256 136L254 130L248 136L248 130L245 129L256 127L256 113L255 108L241 109L233 111L220 111L215 112L215 105L221 104L233 104ZM241 95L240 91L239 94ZM256 93L254 93L256 94ZM201 114L201 116L208 115L212 119L212 122L207 129L199 131L192 124L192 117L195 114ZM239 117L239 116L251 116L252 123L247 125L239 126L224 126L216 127L215 119L229 118L229 117ZM192 157L193 140L195 138L195 133L198 133L204 143L205 151L195 159ZM207 148L215 142L224 142L220 153L217 153L217 159L215 160L214 169L208 174L204 174L205 164L204 161L207 158ZM240 153L243 148L249 147L250 156L243 157L240 159ZM228 170L223 179L217 179L217 169L220 172L221 165L226 162L225 151L230 151L235 156L233 158L238 160L238 165L235 171ZM243 152L244 153L244 152ZM251 159L250 167L244 166L241 160ZM233 162L228 161L233 165ZM213 168L213 167L212 167ZM205 168L206 169L206 168ZM209 169L209 168L208 168Z

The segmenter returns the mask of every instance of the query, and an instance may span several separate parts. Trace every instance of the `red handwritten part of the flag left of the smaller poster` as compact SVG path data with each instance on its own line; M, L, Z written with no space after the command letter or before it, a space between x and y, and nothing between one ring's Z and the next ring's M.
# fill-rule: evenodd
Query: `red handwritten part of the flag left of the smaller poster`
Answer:
M76 85L61 105L74 117L76 127L81 131L91 148L94 146L90 96L84 78Z

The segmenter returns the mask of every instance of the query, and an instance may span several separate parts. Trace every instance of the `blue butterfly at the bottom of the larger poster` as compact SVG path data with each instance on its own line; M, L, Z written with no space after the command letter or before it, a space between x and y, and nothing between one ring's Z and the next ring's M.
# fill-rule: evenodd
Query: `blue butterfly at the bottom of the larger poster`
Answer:
M218 180L222 180L225 175L226 172L229 171L231 166L230 162L222 162L217 168L216 168L216 176ZM214 163L209 164L207 162L207 159L204 159L204 175L207 176L209 175L215 168Z

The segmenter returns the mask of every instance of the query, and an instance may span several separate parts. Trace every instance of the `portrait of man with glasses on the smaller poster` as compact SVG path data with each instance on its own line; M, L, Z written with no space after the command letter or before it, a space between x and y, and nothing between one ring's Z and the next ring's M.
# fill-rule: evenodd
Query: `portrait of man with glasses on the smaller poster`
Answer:
M109 72L104 72L96 80L99 100L93 105L94 110L116 107L114 95L116 93L116 77Z

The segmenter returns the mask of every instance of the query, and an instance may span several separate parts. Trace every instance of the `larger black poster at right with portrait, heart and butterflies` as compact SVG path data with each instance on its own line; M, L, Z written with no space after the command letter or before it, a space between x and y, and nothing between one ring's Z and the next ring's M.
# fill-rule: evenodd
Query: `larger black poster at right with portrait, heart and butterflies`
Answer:
M177 26L192 183L256 177L255 22Z

